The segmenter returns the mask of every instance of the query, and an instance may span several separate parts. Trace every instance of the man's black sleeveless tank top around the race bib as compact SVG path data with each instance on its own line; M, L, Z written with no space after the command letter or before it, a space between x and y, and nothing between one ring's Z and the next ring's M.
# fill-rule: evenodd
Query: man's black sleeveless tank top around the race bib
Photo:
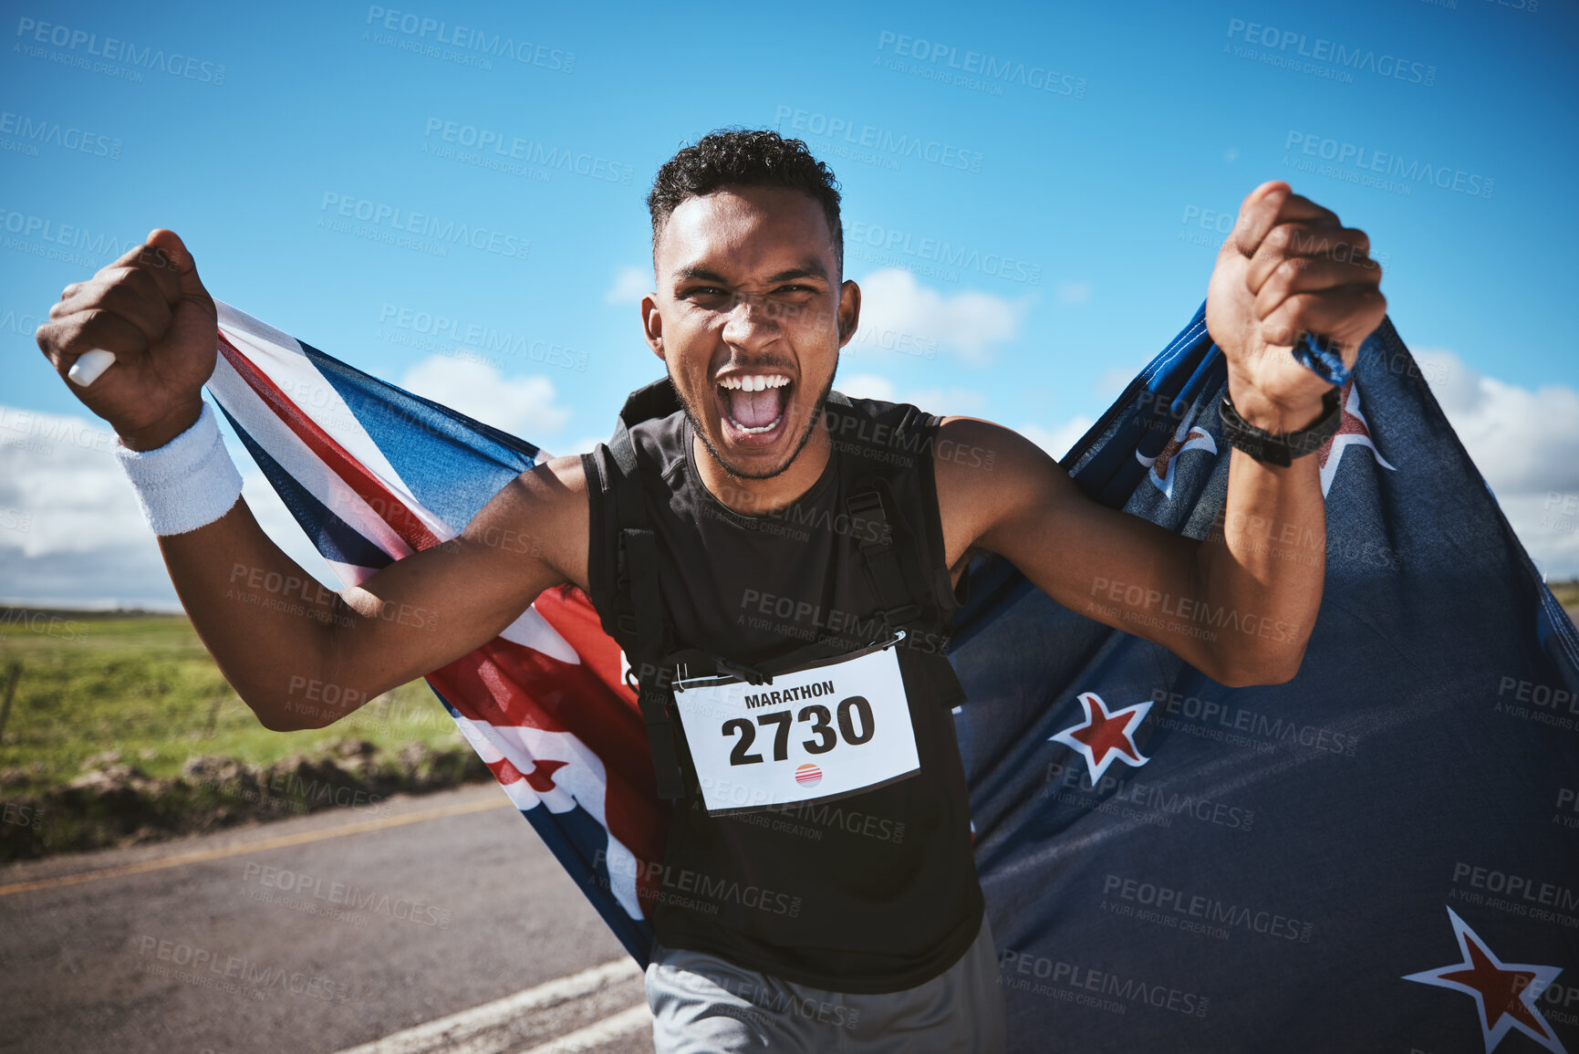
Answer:
M963 702L943 656L957 599L943 556L932 439L938 419L910 405L846 400L826 408L834 450L793 506L742 517L703 485L684 412L630 422L658 582L676 648L747 665L834 657L868 645L881 604L861 544L870 520L846 514L873 482L891 495L895 534L925 567L921 615L897 646L921 771L815 804L709 815L674 722L687 793L674 807L662 888L651 905L662 943L718 954L788 981L892 992L952 966L976 939L982 894L951 706ZM583 455L591 496L587 585L603 627L627 654L616 610L617 525L606 446ZM886 503L887 504L887 503ZM906 597L911 599L911 597ZM922 604L925 600L925 604ZM940 665L941 664L941 665ZM769 665L769 672L771 672Z

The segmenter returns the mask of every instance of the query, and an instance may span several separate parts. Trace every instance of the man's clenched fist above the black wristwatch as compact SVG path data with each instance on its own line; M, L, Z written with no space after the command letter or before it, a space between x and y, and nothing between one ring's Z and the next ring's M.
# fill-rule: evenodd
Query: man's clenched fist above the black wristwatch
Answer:
M1206 292L1206 329L1228 359L1235 409L1268 431L1304 428L1330 384L1295 360L1300 333L1336 341L1353 367L1382 324L1382 269L1364 231L1274 180L1240 205Z

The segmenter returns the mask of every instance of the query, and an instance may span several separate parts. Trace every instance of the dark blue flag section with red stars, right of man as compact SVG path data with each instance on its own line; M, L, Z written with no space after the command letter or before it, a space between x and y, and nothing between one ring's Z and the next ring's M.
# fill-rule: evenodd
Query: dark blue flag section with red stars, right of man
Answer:
M1200 311L1075 482L1221 531L1225 379ZM1071 610L973 567L951 657L1015 1049L1579 1051L1579 638L1390 321L1344 400L1312 455L1325 551L1249 525L1326 564L1287 684L1224 687L1086 618L1281 632L1254 612L1099 567Z

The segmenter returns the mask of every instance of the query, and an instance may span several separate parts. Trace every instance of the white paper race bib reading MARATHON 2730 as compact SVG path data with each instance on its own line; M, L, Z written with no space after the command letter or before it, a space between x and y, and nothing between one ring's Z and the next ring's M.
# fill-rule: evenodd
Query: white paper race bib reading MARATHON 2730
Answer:
M734 676L674 683L711 815L824 801L872 790L921 768L894 645L886 643L767 684Z

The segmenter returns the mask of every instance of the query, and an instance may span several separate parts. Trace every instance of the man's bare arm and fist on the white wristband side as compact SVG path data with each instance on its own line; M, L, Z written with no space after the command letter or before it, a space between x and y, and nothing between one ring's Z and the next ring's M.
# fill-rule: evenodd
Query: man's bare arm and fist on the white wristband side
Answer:
M155 231L147 245L66 286L49 318L38 346L62 376L90 349L115 352L96 381L69 387L122 446L169 449L197 422L218 324L174 232ZM542 547L497 544L523 533L540 536ZM265 727L294 730L332 724L453 662L549 586L584 586L586 539L584 479L570 457L523 472L456 539L343 593L319 588L245 501L196 529L161 534L159 550L226 679Z

